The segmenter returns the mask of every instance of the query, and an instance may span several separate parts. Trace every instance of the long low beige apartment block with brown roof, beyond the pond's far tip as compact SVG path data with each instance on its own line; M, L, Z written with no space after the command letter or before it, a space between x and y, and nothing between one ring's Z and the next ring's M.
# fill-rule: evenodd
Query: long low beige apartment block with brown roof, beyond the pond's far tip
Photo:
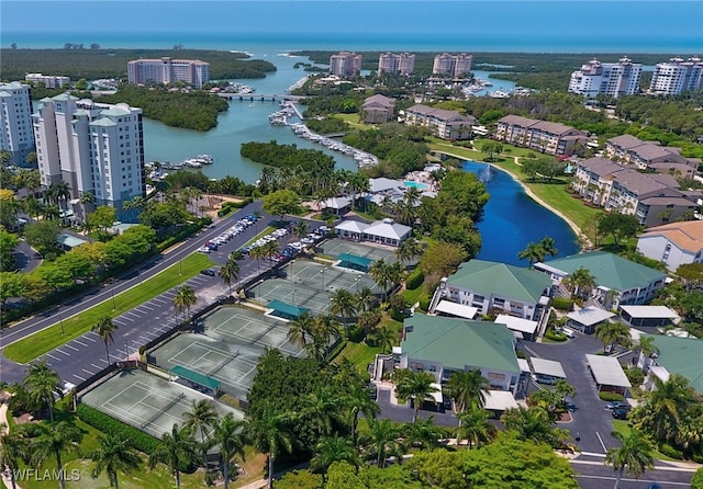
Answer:
M587 133L560 123L506 115L498 121L495 139L556 157L569 156L589 140Z

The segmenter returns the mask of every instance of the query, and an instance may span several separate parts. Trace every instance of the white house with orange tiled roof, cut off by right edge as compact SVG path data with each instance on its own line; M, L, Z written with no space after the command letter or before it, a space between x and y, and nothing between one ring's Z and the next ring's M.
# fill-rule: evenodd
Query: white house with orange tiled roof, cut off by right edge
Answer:
M687 220L649 228L639 236L637 251L666 263L671 272L687 263L702 263L703 221Z

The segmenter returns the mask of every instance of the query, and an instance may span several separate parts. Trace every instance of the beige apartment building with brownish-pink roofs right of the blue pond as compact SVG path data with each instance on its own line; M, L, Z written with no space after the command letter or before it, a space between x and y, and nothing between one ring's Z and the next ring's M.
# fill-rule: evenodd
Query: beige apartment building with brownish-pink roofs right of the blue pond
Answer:
M572 186L583 198L650 227L673 221L698 209L695 192L679 190L671 174L643 173L604 158L576 164Z

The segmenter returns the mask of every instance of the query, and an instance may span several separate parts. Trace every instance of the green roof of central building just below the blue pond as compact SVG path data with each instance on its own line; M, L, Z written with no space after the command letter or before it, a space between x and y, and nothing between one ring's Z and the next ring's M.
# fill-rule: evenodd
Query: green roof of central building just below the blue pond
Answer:
M524 303L537 303L551 278L542 272L486 260L461 263L459 270L447 278L447 285L467 288L473 293L513 298Z

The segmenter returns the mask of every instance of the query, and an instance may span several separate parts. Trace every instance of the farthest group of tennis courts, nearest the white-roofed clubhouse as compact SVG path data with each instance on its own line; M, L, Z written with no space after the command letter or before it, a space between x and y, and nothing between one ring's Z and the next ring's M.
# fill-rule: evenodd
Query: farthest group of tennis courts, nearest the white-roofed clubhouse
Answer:
M283 268L286 278L268 278L249 289L255 300L268 304L278 299L297 307L306 307L313 315L330 312L330 296L345 288L357 293L369 287L373 294L381 289L370 275L335 269L311 260L295 260Z

